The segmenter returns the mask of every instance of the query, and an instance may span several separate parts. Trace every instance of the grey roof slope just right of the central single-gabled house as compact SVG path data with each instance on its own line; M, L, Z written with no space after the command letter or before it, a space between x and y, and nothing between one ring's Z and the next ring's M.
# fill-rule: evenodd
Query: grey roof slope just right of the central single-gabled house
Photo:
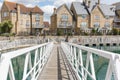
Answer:
M75 9L77 15L88 14L88 12L87 12L85 6L83 5L83 3L73 2L72 5L74 6L74 9Z

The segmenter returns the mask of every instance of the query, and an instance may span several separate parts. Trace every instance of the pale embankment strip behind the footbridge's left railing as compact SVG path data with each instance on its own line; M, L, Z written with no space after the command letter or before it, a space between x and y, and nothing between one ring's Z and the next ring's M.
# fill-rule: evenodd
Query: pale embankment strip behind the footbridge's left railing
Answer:
M45 41L44 41L45 42ZM17 39L17 40L7 40L7 41L0 41L0 50L15 48L22 45L35 45L35 44L42 44L43 40L41 39Z

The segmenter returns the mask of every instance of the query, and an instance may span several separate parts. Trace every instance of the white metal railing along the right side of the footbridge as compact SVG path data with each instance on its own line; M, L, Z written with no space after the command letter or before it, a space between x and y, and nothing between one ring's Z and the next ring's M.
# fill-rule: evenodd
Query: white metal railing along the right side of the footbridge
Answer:
M104 72L105 75L101 74L105 77L101 77L99 80L120 80L120 55L65 42L61 43L61 47L79 80L88 80L88 76L92 80L98 80L95 71L96 65L94 65L94 60L98 58L95 58L95 56L100 56L108 60L106 73ZM84 59L84 51L87 52L86 59Z

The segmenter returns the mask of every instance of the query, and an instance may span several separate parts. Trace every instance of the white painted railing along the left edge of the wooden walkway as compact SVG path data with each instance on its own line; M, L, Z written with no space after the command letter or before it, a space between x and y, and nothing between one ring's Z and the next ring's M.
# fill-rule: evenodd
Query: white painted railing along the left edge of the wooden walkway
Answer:
M0 57L0 80L7 80L8 77L10 80L37 80L52 48L53 42L2 54ZM17 70L22 72L19 73L19 75L22 74L19 79L20 76L16 76Z

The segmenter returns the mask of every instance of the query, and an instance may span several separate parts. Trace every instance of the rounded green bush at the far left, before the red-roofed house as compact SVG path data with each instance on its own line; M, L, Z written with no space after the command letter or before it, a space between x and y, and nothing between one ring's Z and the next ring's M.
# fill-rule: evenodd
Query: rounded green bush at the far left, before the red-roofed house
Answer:
M10 33L13 28L13 24L11 21L7 20L0 24L0 33Z

